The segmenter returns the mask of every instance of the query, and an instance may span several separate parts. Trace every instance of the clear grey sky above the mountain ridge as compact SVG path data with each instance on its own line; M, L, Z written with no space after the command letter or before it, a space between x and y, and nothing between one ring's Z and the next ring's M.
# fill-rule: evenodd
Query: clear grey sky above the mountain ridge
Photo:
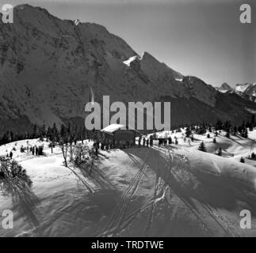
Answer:
M0 0L41 6L57 17L104 25L139 55L212 85L256 82L255 0ZM239 21L250 3L252 24Z

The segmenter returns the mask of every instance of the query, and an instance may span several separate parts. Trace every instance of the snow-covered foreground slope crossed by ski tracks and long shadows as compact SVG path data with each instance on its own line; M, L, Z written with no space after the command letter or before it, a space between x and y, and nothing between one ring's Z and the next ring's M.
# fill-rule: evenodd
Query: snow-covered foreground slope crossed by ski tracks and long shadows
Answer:
M178 145L100 150L91 173L63 167L61 150L52 154L48 142L0 146L0 155L17 149L13 157L32 180L30 187L2 183L0 213L13 210L15 229L0 236L255 236L255 162L237 161L250 140L220 135L213 144L213 134L204 134L189 145L184 133L159 133L176 136ZM197 150L201 141L209 153ZM20 153L21 145L44 145L45 156ZM218 146L224 157L216 156ZM239 225L245 209L251 229Z

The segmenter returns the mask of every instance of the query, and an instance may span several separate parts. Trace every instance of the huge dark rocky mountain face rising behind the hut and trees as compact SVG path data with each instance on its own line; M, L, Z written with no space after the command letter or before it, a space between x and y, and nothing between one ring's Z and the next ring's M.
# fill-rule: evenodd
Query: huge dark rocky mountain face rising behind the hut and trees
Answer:
M170 101L173 126L216 119L240 123L250 118L248 108L256 109L147 52L137 55L101 25L60 20L28 5L14 8L13 24L0 20L0 131L82 122L90 84L100 103L103 95L111 102Z

